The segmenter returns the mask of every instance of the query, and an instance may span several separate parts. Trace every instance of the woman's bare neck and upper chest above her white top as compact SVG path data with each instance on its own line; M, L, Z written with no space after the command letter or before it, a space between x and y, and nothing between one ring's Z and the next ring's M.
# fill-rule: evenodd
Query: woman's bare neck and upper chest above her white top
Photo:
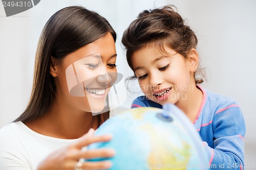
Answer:
M56 101L47 113L25 125L39 134L63 139L79 138L90 128L97 129L99 126L92 113L63 104L60 106Z

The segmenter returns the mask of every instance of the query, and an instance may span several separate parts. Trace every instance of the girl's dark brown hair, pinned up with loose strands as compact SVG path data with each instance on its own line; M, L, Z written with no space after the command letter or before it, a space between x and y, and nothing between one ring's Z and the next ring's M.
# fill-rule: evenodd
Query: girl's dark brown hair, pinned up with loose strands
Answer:
M167 45L185 58L192 48L196 49L197 36L172 7L174 6L143 11L124 31L122 43L126 48L127 63L132 70L133 53L147 45L154 45L162 52L165 52L164 45ZM131 79L135 78L133 76ZM195 81L196 84L203 82L202 79Z

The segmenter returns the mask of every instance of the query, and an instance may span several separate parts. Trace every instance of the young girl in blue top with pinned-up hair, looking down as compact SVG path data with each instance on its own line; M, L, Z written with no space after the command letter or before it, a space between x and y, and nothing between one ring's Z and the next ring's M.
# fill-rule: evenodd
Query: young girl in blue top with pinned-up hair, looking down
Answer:
M200 133L212 169L243 169L245 123L239 104L196 79L197 37L172 7L140 13L125 30L126 59L145 94L132 107L178 106ZM167 163L167 162L166 162Z

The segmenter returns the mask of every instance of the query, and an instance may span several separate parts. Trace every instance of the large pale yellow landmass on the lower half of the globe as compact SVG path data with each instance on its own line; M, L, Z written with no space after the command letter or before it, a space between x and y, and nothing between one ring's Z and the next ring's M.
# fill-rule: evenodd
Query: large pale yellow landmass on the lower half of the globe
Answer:
M140 113L141 114L141 113ZM146 131L150 137L151 151L148 156L148 167L151 170L175 169L182 170L187 168L190 157L190 145L186 141L181 141L181 147L177 143L168 141L166 135L156 131L151 124L144 124L140 129Z

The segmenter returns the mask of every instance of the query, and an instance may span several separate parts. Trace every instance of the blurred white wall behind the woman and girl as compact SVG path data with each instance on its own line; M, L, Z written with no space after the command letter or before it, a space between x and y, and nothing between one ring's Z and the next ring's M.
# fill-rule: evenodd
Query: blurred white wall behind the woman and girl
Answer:
M202 86L240 102L247 128L247 163L256 163L256 135L253 132L256 119L253 107L256 104L254 0L41 0L34 8L12 17L5 17L0 4L0 128L22 113L27 105L37 41L42 27L57 10L82 5L108 19L118 34L118 71L126 78L133 73L120 46L123 31L142 10L167 4L175 5L196 31L201 65L207 74L207 82ZM129 100L123 107L129 108L136 95L129 93Z

